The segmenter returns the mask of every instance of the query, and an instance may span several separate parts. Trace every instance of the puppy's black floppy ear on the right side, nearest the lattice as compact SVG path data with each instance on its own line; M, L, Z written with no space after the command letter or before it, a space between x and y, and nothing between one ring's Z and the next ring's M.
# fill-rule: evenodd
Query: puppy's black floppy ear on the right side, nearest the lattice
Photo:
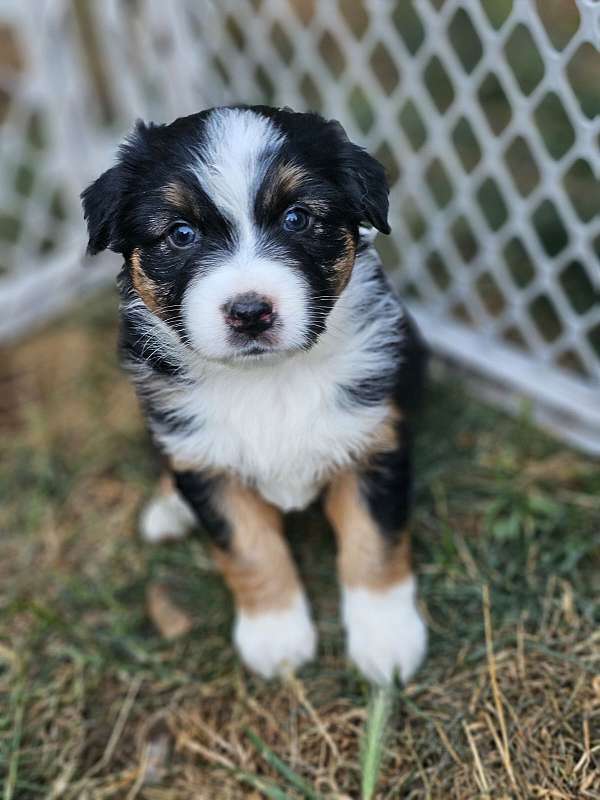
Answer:
M388 224L389 186L385 170L364 148L353 144L339 122L329 123L342 144L342 171L353 205L361 219L378 231L390 233Z

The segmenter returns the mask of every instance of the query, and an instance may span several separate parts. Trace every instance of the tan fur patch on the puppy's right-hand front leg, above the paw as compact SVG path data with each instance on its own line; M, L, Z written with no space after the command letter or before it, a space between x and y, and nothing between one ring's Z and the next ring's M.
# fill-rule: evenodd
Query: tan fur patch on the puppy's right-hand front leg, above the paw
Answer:
M354 472L344 472L334 479L325 512L336 534L338 571L344 586L383 591L408 578L408 533L403 533L396 545L385 540L360 495Z

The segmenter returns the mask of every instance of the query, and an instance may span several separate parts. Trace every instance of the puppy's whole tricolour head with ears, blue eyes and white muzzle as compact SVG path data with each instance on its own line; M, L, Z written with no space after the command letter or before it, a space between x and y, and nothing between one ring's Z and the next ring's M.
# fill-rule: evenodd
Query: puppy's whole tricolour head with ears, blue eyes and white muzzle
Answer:
M266 107L138 125L83 193L90 252L205 358L310 347L346 286L358 226L385 233L382 167L336 122Z

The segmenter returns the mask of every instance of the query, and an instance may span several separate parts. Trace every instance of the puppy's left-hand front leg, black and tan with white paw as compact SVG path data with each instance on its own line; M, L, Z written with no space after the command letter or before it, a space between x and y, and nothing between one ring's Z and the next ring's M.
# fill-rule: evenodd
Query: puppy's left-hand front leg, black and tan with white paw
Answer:
M186 471L175 473L175 482L211 535L233 592L234 641L244 662L271 678L313 658L316 632L280 513L230 477Z

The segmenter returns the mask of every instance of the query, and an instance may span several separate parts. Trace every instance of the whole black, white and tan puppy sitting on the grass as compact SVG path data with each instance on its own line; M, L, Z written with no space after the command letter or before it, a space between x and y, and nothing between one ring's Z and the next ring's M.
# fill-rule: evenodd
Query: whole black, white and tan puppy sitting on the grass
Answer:
M235 644L271 677L315 655L282 515L322 497L348 654L406 681L426 646L406 531L425 354L372 244L381 165L317 114L214 108L138 123L82 199L89 251L124 256L122 360L172 476L142 534L201 524Z

